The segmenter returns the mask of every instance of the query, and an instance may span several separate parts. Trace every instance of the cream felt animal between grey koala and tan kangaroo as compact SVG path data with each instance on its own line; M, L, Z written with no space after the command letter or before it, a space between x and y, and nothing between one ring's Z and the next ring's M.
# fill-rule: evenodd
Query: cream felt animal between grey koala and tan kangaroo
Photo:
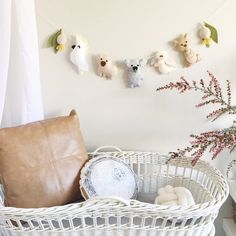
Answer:
M150 65L158 69L161 74L168 74L176 68L176 63L168 57L166 51L156 52Z

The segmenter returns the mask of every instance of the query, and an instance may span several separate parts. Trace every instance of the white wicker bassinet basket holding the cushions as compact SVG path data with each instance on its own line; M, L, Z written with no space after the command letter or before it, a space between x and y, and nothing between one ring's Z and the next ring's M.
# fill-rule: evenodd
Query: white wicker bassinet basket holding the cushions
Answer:
M95 198L66 206L17 209L0 207L4 236L213 236L214 220L228 196L221 173L204 161L192 167L187 158L166 163L151 152L109 152L139 177L139 200L153 201L166 184L185 186L196 205L158 206L138 200ZM148 196L148 197L147 197ZM152 196L152 197L150 197ZM2 201L3 203L3 201Z

